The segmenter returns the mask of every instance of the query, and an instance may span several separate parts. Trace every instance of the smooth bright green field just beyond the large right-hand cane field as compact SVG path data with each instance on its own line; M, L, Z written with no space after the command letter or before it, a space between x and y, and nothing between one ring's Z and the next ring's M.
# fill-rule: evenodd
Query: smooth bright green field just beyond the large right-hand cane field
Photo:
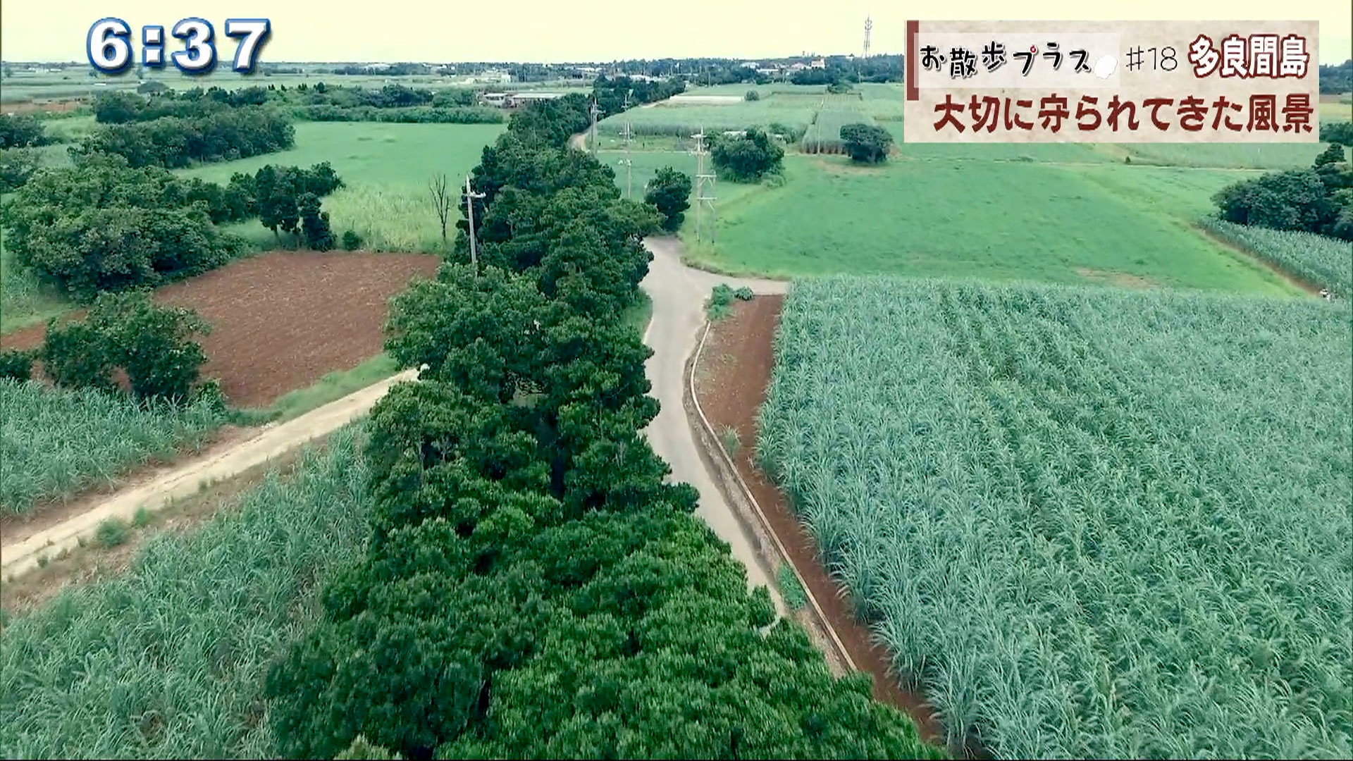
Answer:
M785 176L774 188L723 183L717 246L691 245L691 259L778 276L1126 279L1296 292L1192 229L1208 196L1241 173L938 158L859 168L843 157L786 156Z

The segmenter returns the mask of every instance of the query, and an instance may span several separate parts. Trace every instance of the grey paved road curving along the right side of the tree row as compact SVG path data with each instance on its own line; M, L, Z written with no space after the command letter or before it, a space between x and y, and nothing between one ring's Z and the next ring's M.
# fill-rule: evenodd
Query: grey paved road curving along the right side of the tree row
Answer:
M643 287L653 302L653 318L648 324L644 343L653 349L645 367L652 383L652 395L662 405L658 417L645 433L658 452L672 467L671 478L700 490L697 515L714 534L733 548L733 557L747 566L748 581L754 586L770 588L777 607L783 611L779 592L756 559L752 544L737 516L728 506L723 493L709 477L705 462L695 448L695 437L682 405L682 383L686 360L695 351L700 329L705 324L704 303L718 283L729 287L750 287L758 294L783 294L789 283L781 280L754 280L727 278L681 263L682 244L676 238L648 238L644 245L653 253Z

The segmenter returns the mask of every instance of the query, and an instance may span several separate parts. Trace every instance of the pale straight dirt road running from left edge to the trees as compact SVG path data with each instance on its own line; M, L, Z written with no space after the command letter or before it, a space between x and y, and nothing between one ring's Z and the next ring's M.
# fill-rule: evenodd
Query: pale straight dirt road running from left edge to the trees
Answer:
M74 551L81 539L93 538L99 524L110 517L130 521L139 508L164 509L176 498L193 494L216 481L244 473L306 441L331 433L354 417L365 414L391 386L414 378L417 372L409 370L295 420L267 427L225 452L184 463L154 481L114 494L87 513L34 534L23 542L4 544L0 547L0 578L9 580L38 567L39 558L53 558L62 550Z

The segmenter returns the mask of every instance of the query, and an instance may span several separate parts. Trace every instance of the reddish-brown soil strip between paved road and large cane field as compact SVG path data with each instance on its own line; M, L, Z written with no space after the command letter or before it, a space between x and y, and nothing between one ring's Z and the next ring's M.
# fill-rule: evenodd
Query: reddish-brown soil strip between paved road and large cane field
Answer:
M827 574L819 561L817 546L787 500L752 462L756 410L766 401L766 386L775 366L771 341L779 325L782 302L779 295L735 302L732 317L714 322L694 371L695 395L720 437L727 428L737 431L741 445L732 458L737 473L756 497L771 531L785 546L790 562L817 599L855 666L874 677L874 697L911 715L925 741L943 745L944 733L925 700L902 689L888 673L889 653L873 645L869 628L854 616L848 592Z

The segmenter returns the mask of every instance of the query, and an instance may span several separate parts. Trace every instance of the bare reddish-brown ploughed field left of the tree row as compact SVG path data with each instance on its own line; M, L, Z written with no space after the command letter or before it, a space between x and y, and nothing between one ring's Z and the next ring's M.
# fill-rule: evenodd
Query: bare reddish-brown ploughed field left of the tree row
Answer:
M438 263L421 253L276 251L164 286L154 298L211 324L203 376L219 378L231 405L264 408L380 353L390 297L415 275L434 275ZM15 330L0 345L32 348L45 332Z

